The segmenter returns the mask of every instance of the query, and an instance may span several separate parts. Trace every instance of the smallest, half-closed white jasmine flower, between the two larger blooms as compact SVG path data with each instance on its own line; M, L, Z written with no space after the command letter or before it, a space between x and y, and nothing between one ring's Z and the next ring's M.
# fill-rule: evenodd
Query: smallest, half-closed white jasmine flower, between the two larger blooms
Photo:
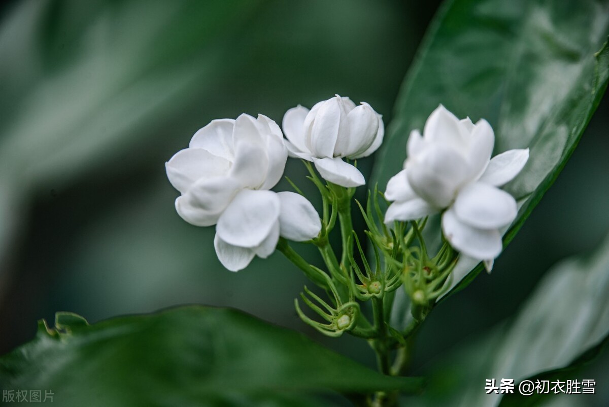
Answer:
M357 106L338 95L315 104L298 105L283 116L283 131L290 157L312 161L322 177L341 186L364 185L364 175L343 161L367 157L382 143L381 115L362 102Z

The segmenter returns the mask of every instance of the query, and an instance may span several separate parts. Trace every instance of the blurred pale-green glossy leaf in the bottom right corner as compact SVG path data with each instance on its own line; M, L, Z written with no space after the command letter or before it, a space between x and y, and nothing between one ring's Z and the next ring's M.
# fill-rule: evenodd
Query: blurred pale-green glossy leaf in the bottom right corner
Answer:
M517 390L504 398L485 394L485 379L512 378L516 384L527 378L594 379L579 372L609 342L607 292L609 236L593 256L563 261L549 271L511 324L438 363L421 405L437 405L433 397L442 396L451 406L540 405L543 397L524 397Z

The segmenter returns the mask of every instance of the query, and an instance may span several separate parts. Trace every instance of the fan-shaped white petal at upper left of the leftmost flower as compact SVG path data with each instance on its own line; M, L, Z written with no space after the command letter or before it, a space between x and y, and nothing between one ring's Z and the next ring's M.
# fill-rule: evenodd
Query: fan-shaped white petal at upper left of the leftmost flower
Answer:
M189 147L206 149L218 157L233 160L233 119L212 120L192 136Z

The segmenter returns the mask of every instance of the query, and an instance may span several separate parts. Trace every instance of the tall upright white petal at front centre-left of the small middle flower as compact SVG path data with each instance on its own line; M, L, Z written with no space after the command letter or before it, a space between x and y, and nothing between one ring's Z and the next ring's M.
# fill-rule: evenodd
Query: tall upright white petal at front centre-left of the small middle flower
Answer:
M309 111L309 115L313 112ZM309 139L305 138L306 146L315 157L333 157L339 128L340 105L339 100L333 97L317 109Z

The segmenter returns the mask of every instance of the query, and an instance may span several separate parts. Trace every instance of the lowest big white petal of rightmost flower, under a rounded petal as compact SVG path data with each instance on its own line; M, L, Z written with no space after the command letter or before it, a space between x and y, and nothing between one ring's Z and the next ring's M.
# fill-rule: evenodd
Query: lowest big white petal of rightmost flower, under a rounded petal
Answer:
M501 253L501 235L496 229L479 229L463 223L449 208L442 215L442 231L452 247L477 260L496 258Z

